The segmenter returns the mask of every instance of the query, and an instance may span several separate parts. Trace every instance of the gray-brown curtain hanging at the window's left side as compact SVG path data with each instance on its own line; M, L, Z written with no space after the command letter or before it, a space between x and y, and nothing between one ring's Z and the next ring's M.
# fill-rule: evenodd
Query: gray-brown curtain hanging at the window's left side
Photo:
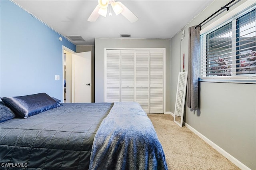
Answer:
M189 28L187 107L198 109L198 60L201 27Z

